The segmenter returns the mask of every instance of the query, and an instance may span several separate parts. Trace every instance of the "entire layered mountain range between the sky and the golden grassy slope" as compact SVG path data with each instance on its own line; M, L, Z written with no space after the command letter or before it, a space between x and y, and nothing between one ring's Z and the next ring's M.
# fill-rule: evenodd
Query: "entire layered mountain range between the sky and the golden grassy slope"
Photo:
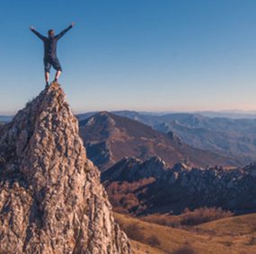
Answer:
M255 124L254 119L130 111L87 114L79 122L112 206L134 215L180 214L201 206L256 211L256 167L241 166L251 162L245 147L252 147L253 155Z

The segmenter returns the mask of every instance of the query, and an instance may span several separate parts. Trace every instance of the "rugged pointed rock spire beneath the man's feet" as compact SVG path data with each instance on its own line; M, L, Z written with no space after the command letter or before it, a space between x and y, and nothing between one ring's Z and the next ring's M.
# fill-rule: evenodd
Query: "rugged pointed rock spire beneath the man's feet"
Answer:
M0 253L132 253L57 84L1 129Z

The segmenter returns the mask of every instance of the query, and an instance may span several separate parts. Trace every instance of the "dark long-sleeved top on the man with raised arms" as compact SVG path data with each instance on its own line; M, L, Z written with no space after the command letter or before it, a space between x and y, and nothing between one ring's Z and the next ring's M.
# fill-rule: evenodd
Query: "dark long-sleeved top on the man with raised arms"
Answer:
M57 40L60 39L66 31L69 31L72 28L72 25L70 25L68 28L66 28L64 31L61 31L59 34L53 37L45 37L40 34L40 32L31 30L35 35L37 35L44 43L44 57L57 57Z

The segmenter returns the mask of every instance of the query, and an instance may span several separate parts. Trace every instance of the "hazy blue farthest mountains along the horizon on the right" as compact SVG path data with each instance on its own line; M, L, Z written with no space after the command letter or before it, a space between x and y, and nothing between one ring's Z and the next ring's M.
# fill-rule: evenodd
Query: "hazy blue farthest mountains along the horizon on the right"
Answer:
M136 119L165 133L172 131L188 145L237 158L244 165L256 160L254 118L209 118L190 113L161 116L143 115L133 111L115 113Z

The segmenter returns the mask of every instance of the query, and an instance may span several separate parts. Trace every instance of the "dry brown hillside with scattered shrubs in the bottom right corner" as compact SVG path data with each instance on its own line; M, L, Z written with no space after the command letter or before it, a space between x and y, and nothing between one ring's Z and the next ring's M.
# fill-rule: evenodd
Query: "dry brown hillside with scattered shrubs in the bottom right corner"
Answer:
M128 236L136 241L132 241L135 253L155 253L155 254L255 254L256 253L256 232L233 235L234 227L221 234L212 231L200 231L190 228L189 230L174 229L155 223L143 222L128 215L115 214L116 220L121 228L128 233ZM252 215L251 219L255 219ZM236 217L225 219L234 224ZM248 220L248 217L244 217ZM213 222L220 222L222 220ZM250 220L248 221L248 224ZM210 223L208 223L209 228ZM239 224L237 224L239 226ZM227 228L228 229L228 228ZM157 241L150 241L157 239ZM138 244L137 242L141 243ZM150 244L153 246L150 246ZM153 248L153 249L151 249ZM150 252L152 250L152 252ZM145 252L143 252L145 251ZM149 251L149 252L146 252Z

